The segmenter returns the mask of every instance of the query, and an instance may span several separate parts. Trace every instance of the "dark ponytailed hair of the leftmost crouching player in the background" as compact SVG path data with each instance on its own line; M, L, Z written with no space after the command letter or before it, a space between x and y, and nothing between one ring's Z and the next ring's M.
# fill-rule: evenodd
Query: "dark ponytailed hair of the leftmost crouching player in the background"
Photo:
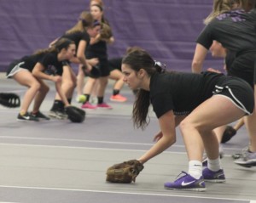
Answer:
M68 48L70 44L74 44L74 42L67 38L61 38L57 42L55 42L50 48L38 49L34 55L39 54L47 54L47 53L60 53L62 48Z

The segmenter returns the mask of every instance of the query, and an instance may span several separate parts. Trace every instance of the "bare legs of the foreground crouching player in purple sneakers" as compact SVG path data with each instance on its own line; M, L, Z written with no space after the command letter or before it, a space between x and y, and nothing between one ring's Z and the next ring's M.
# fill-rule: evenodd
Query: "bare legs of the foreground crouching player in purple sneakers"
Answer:
M218 104L218 106L214 105ZM190 160L201 161L203 146L209 159L218 159L218 139L212 130L216 127L238 120L244 115L229 99L212 96L198 106L180 124L184 144ZM220 119L221 118L221 119Z

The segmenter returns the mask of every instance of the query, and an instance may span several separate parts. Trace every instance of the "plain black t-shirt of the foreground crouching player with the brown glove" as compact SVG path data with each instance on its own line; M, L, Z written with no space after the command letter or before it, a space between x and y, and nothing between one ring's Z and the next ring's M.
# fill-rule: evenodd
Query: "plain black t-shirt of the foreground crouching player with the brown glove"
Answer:
M228 77L213 72L155 73L150 79L150 101L158 118L169 110L177 116L188 115L212 97L215 85L229 85Z

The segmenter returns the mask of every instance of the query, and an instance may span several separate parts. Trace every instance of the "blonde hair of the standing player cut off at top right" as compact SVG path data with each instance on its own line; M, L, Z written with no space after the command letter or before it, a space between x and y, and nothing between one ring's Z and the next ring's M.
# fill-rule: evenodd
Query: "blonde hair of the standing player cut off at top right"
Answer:
M204 24L209 24L219 14L224 14L232 9L242 8L249 11L255 7L255 0L214 0L212 12L204 20Z

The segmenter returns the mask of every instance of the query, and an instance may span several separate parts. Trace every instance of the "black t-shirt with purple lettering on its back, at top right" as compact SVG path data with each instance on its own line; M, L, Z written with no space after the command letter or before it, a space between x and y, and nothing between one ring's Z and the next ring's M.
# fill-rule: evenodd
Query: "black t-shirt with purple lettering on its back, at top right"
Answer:
M256 51L256 11L233 10L218 15L201 31L196 42L209 49L212 41L237 55Z

